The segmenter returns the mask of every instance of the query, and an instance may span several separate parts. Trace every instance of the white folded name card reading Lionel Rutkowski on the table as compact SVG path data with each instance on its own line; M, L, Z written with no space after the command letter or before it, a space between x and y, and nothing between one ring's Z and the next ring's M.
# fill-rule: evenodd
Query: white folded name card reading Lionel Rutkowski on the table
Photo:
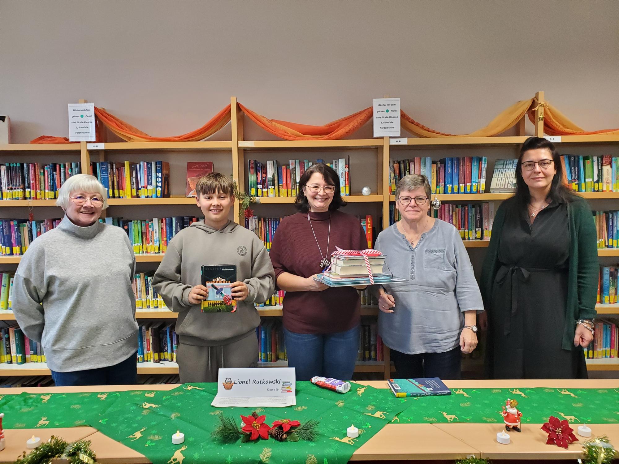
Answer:
M294 367L219 369L217 395L211 406L269 406L297 404Z

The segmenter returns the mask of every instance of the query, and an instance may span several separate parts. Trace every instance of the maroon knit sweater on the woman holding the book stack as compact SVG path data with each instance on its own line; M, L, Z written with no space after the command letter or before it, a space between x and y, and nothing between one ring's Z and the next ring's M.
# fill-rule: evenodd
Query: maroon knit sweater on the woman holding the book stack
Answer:
M326 253L327 231L331 215L331 238L327 259L335 246L345 250L368 247L360 221L340 211L309 213L316 239ZM275 231L271 262L275 278L282 272L301 277L320 273L322 256L309 226L308 213L284 218ZM323 255L324 256L324 255ZM287 291L284 296L284 327L297 333L335 333L350 330L361 322L360 298L352 287L323 291Z

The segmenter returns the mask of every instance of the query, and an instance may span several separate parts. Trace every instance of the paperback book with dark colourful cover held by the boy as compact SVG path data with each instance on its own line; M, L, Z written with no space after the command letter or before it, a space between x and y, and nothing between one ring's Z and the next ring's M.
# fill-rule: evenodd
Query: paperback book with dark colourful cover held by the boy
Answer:
M208 295L202 300L202 312L235 312L232 284L236 282L236 264L202 266L202 285Z

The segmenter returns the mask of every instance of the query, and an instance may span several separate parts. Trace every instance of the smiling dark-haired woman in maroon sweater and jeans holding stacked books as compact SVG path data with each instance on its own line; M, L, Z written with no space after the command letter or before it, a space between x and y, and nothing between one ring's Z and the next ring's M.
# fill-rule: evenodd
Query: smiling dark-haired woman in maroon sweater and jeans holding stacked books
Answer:
M271 245L277 287L285 290L284 340L297 380L313 376L352 378L361 323L360 298L352 287L329 288L313 279L329 264L335 246L367 248L360 221L342 213L337 173L322 163L299 181L298 213L284 218ZM361 287L363 288L363 287Z

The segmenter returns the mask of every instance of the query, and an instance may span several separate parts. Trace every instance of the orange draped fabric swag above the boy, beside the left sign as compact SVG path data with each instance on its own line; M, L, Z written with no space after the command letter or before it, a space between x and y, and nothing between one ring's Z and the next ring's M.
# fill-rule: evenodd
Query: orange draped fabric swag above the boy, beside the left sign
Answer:
M95 106L95 114L105 126L114 132L118 137L128 142L197 142L198 140L206 139L210 135L215 134L223 126L230 121L230 105L223 108L222 111L215 114L215 116L204 126L196 129L195 131L188 132L183 135L175 135L173 137L152 137L145 132L136 129L122 119L116 118L112 114L108 113L101 108Z

